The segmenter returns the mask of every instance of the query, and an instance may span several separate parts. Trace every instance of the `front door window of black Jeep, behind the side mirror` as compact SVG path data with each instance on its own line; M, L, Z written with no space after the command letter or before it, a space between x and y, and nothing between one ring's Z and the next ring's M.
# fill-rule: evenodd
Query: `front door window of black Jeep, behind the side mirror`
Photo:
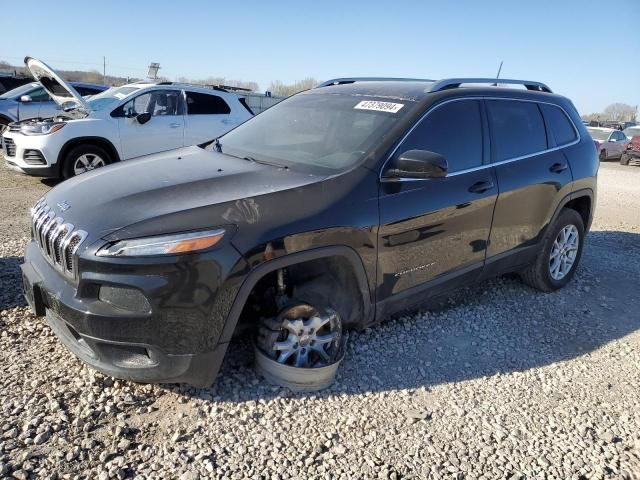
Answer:
M407 150L443 155L449 172L482 165L480 102L461 100L436 107L413 129L398 152Z

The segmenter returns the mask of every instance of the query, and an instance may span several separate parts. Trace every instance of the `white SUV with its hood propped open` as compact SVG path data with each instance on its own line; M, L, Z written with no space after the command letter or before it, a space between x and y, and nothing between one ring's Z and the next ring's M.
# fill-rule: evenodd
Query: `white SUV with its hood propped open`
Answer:
M11 123L2 134L6 165L69 178L112 162L196 145L252 116L244 98L220 89L134 83L89 99L54 70L27 57L32 75L64 113Z

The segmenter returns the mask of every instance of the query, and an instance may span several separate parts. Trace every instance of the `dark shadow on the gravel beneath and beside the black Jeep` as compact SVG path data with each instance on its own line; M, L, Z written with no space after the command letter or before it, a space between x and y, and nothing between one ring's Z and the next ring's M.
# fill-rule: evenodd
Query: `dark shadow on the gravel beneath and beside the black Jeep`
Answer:
M640 234L591 232L576 277L560 292L544 294L507 275L350 332L337 381L325 391L292 393L268 385L253 371L248 336L232 342L211 388L165 387L242 402L429 388L525 371L584 355L640 329L638 284Z

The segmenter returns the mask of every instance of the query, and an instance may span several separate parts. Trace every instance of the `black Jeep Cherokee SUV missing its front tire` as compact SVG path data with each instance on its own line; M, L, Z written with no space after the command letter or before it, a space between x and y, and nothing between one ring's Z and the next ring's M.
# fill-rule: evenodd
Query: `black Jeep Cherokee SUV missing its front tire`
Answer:
M108 375L206 386L240 327L315 367L343 329L468 282L561 288L597 153L569 100L494 81L338 79L66 181L32 209L26 298Z

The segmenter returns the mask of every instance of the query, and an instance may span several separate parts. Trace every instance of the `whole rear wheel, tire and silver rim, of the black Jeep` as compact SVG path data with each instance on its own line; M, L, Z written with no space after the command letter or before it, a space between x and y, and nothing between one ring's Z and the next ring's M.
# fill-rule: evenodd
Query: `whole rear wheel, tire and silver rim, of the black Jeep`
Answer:
M543 292L564 287L575 274L583 244L582 217L575 210L562 210L549 227L536 260L521 273L522 279Z

